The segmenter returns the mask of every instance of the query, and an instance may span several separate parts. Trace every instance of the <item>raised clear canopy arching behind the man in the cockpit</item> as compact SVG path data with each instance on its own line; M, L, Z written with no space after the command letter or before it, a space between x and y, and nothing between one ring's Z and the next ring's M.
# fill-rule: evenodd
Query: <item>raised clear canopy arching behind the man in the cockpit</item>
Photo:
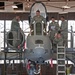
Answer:
M36 15L36 11L39 10L40 14L46 18L47 17L47 10L46 7L43 3L41 2L36 2L32 5L31 10L30 10L30 16L33 18Z

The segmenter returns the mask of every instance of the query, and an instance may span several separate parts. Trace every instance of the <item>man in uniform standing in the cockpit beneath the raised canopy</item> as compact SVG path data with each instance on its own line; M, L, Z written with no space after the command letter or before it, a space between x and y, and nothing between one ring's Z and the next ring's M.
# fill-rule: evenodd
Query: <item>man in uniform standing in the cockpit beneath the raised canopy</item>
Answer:
M38 34L41 33L41 29L42 29L41 26L42 25L40 25L40 24L43 24L43 26L44 26L43 29L45 29L45 31L46 31L46 19L42 15L40 15L39 10L36 11L36 15L32 18L32 20L30 22L31 30L34 29L34 26L33 26L34 23L36 23L36 33L38 33Z

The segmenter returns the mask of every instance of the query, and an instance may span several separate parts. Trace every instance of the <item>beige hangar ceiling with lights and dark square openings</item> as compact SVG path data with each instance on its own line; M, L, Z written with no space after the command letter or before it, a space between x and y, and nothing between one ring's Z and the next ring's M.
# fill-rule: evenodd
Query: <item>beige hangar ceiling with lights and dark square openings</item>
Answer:
M36 1L43 2L47 12L75 12L75 0L0 0L0 12L29 12ZM13 9L12 5L18 8Z

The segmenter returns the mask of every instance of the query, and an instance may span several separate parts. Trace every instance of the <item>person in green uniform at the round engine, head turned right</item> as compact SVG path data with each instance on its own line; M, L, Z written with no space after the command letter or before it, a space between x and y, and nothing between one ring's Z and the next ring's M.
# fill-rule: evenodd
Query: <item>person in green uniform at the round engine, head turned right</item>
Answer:
M20 16L16 16L11 22L11 31L13 32L13 46L17 47L20 44ZM18 40L19 39L19 40Z

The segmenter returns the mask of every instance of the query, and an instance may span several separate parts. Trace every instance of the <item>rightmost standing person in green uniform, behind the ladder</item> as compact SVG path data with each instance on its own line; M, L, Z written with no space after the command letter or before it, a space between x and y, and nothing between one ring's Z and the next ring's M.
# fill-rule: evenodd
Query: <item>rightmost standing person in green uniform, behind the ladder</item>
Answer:
M61 27L60 27L60 31L62 34L62 37L64 39L64 45L67 46L67 36L68 36L68 22L65 21L65 17L61 16Z

